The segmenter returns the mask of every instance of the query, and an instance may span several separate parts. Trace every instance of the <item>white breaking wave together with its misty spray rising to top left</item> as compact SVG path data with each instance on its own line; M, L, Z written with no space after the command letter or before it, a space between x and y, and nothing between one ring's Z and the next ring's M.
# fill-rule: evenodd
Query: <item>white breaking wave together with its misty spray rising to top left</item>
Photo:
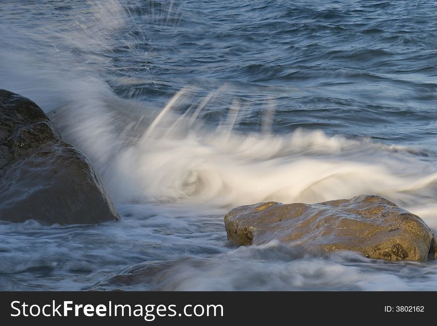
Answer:
M147 17L155 25L173 24L181 17L176 7L173 1L149 7ZM116 0L85 1L61 19L46 17L47 24L31 32L19 24L6 32L0 25L8 45L0 52L2 87L31 97L46 111L58 108L53 119L92 159L116 202L229 208L376 193L431 219L436 167L409 148L323 131L275 134L274 101L266 103L258 129L255 124L243 130L251 108L227 85L185 87L162 110L159 103L115 96L104 80L117 71L108 64L117 50L113 43L123 43L126 55L148 55L138 45L147 34L134 37L126 30L144 30L133 20L134 9ZM34 55L26 56L30 49ZM130 81L123 80L129 89Z

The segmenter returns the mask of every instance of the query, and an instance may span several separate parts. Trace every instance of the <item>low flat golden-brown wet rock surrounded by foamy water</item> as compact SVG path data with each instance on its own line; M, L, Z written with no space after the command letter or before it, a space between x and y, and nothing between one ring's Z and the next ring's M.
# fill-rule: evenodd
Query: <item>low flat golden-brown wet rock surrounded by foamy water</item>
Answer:
M436 238L425 222L380 196L317 204L257 203L232 209L224 223L228 240L238 245L278 239L315 254L353 250L389 261L437 258Z

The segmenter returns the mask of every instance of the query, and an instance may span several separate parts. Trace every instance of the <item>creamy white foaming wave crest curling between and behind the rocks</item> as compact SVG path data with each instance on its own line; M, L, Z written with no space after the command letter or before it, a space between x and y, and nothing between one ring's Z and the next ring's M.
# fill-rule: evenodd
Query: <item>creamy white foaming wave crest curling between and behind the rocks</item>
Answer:
M195 108L184 115L172 110L187 94L181 91L153 119L144 103L109 91L61 108L53 119L94 161L118 203L229 208L379 194L409 208L437 192L434 164L412 151L320 130L244 134L234 131L238 118L208 127Z

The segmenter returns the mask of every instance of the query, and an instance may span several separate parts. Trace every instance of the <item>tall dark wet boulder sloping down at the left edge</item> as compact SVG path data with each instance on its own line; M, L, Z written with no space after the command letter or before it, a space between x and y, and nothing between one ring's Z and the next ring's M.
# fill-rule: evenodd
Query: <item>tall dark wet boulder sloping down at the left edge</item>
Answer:
M0 90L0 220L119 220L91 162L32 101Z

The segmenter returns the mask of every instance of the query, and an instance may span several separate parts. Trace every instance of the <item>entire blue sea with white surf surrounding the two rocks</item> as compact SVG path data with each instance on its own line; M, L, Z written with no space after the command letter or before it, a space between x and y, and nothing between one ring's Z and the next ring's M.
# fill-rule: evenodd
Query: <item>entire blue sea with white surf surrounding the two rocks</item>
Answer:
M0 0L0 88L92 160L122 217L0 222L0 289L436 290L435 261L237 248L223 223L377 194L436 232L436 16L418 0Z

